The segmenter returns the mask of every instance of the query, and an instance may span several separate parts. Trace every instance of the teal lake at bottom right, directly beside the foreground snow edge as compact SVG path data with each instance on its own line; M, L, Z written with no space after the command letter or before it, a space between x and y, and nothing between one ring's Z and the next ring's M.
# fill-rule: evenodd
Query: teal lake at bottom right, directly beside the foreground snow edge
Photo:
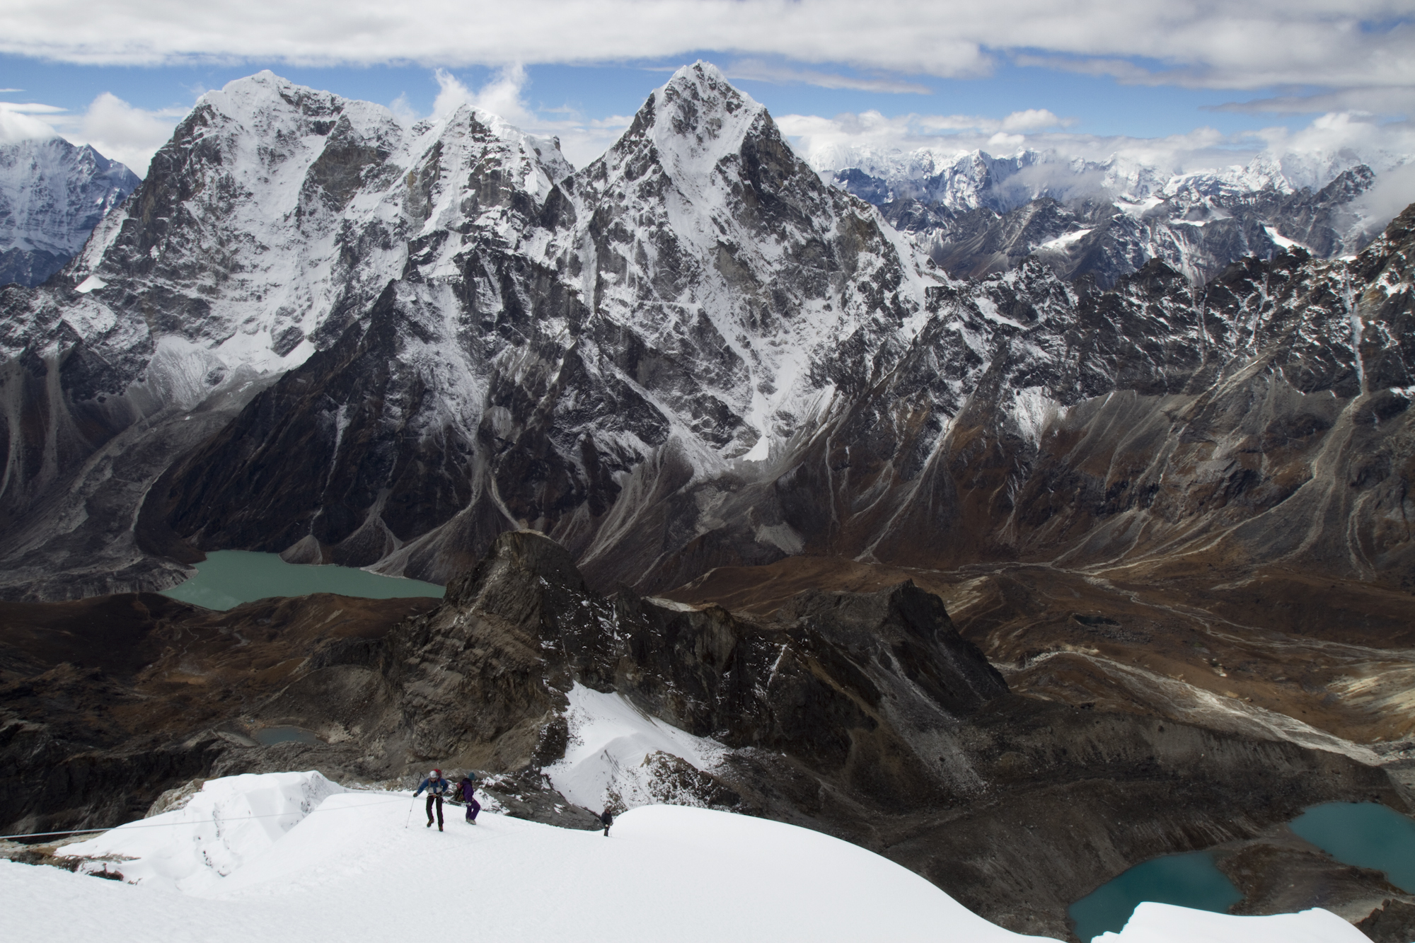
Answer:
M1242 895L1214 865L1213 855L1191 851L1138 864L1073 903L1067 913L1075 935L1091 940L1107 930L1118 933L1145 901L1223 913Z

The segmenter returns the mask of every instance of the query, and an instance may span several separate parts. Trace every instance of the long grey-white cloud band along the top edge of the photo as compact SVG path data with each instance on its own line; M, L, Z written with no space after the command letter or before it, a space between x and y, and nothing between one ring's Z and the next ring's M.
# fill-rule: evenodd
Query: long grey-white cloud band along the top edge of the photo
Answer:
M713 50L887 74L1000 57L1211 88L1415 85L1408 0L11 0L0 52L69 62L634 61Z

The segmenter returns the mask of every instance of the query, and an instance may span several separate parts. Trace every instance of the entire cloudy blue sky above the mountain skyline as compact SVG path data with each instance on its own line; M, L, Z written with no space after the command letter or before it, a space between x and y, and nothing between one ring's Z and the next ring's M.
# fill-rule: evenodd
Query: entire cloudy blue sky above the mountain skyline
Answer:
M18 91L0 92L0 133L45 122L139 170L202 91L262 68L417 115L454 81L512 123L560 135L583 164L696 58L808 154L1050 146L1179 167L1264 147L1356 147L1387 163L1415 149L1409 0L412 0L406 17L311 0L209 0L175 17L143 0L14 7L0 88Z

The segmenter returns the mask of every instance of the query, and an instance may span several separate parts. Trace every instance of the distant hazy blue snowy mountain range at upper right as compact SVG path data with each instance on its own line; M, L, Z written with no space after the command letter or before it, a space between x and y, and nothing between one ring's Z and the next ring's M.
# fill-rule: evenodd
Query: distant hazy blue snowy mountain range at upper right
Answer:
M949 275L981 278L1036 256L1063 279L1111 287L1150 259L1203 285L1245 258L1285 248L1317 258L1354 255L1375 235L1360 205L1375 173L1356 164L1295 185L1279 161L1163 176L1111 159L1061 161L1026 150L941 160L913 154L832 154L836 185L884 217ZM862 163L860 166L853 166ZM1306 170L1306 173L1302 173ZM1334 170L1334 167L1327 168Z

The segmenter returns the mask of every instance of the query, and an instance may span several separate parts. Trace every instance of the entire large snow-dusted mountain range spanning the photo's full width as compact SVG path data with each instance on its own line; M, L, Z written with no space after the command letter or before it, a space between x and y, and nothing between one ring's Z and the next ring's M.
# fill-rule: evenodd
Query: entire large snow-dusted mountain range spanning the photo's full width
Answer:
M212 548L444 582L521 525L641 592L794 554L1408 589L1412 222L1207 286L957 282L703 64L574 173L263 74L3 297L6 592Z

